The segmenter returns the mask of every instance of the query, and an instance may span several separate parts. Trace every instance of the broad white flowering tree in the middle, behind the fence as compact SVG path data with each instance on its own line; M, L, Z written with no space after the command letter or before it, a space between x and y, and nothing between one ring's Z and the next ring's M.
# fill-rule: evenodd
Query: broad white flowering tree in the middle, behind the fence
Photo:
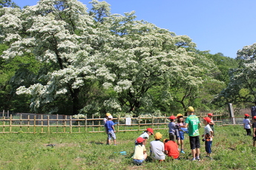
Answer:
M169 103L177 92L180 94L177 90L185 90L186 97L188 92L198 92L206 79L214 80L210 72L216 67L196 54L191 38L135 18L134 12L105 18L113 35L101 53L102 63L114 80L105 81L103 86L116 92L105 106L116 111L154 112L155 95L160 95L160 102ZM176 100L184 108L189 103Z

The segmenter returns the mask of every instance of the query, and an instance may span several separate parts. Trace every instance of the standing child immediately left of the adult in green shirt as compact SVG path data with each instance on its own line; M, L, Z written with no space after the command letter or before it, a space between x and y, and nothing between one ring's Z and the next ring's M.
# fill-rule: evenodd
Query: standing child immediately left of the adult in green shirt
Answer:
M179 126L179 135L177 137L177 143L178 146L180 146L180 153L185 154L184 150L184 132L181 128L185 128L185 124L184 120L183 120L183 115L182 114L178 114L177 115L177 126Z

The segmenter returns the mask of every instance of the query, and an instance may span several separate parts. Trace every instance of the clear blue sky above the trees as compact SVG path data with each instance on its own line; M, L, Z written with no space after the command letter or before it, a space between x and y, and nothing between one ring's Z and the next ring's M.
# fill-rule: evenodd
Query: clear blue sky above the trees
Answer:
M38 0L13 0L20 7ZM80 0L91 8L88 0ZM101 1L101 0L99 0ZM197 49L235 58L237 50L256 42L255 0L106 0L111 13L136 11L145 20L176 35L188 35Z

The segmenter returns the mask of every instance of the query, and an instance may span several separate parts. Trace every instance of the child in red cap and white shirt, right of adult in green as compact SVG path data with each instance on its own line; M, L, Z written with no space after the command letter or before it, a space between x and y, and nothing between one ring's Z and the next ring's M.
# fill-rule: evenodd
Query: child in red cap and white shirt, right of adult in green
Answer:
M210 157L211 154L211 143L212 143L212 138L213 138L213 131L211 130L211 127L209 125L209 123L211 122L211 118L206 117L203 118L203 123L206 125L205 126L205 132L202 135L203 141L206 142L206 157Z

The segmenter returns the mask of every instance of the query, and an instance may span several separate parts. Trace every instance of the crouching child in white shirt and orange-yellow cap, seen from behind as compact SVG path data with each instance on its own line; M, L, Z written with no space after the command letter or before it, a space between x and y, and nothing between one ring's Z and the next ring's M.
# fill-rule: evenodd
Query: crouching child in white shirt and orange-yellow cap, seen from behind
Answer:
M162 136L163 135L160 134L160 132L157 132L156 135L154 135L155 140L151 141L150 143L151 156L154 158L154 160L159 160L159 162L163 162L165 160L165 147L163 142L160 141Z

